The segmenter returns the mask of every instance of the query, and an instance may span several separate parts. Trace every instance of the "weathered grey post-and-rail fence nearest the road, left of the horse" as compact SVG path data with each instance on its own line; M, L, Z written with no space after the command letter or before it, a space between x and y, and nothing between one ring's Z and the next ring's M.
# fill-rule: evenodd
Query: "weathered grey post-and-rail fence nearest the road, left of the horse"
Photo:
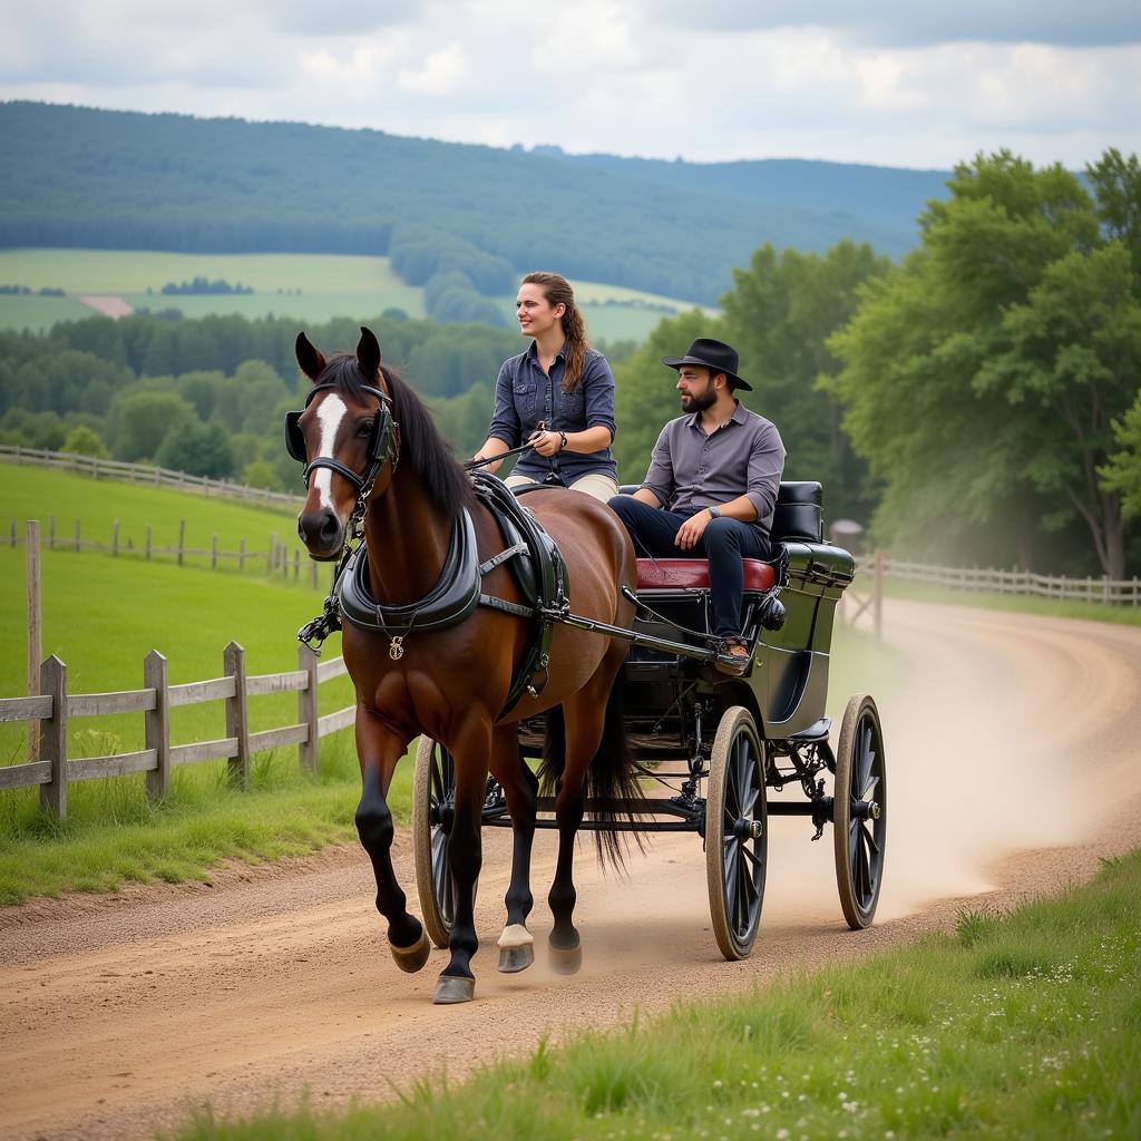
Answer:
M143 688L107 694L70 694L67 666L55 655L40 666L40 693L32 697L0 698L0 721L38 722L39 758L0 767L0 790L39 785L40 804L63 819L67 815L67 786L73 780L146 774L147 796L157 800L170 786L176 766L224 759L236 787L248 788L250 758L269 748L297 745L302 769L316 772L322 737L353 725L356 705L319 715L317 689L322 681L346 672L343 658L317 661L307 646L298 648L298 669L286 673L249 677L245 654L230 642L222 654L222 677L171 686L167 658L157 650L143 663ZM264 694L296 691L298 719L292 725L250 733L246 702ZM170 744L170 711L183 705L225 701L226 736L192 744ZM73 718L108 713L141 713L145 747L106 756L67 756L67 728ZM35 725L32 726L35 728Z

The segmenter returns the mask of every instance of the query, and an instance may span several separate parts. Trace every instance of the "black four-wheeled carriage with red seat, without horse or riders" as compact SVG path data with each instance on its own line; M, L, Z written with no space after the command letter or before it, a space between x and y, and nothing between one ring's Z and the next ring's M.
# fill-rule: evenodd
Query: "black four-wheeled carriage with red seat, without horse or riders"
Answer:
M745 675L711 667L703 559L639 559L633 631L609 632L631 642L617 683L647 794L606 807L612 816L626 815L626 830L693 832L704 841L712 930L728 960L746 957L756 939L771 817L808 818L814 840L832 825L840 904L853 930L872 923L883 876L887 774L875 702L866 694L850 698L835 747L824 717L833 622L855 564L848 551L823 542L818 483L782 483L772 543L770 561L745 560ZM544 728L541 719L520 722L524 756L541 755ZM452 755L421 737L413 793L416 888L439 947L448 944L454 907L454 790ZM772 795L786 790L793 798ZM600 807L588 801L584 830L597 826L592 809ZM552 811L553 798L540 798L536 826L556 827ZM483 824L511 826L492 777Z

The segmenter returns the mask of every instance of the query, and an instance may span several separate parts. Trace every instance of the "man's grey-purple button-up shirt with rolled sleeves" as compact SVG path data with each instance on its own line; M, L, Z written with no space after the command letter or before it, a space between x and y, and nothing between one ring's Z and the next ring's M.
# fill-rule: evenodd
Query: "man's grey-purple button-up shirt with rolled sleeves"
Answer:
M753 526L768 535L784 460L776 424L738 400L729 420L711 436L699 412L671 420L654 445L642 487L680 515L745 495L756 510Z

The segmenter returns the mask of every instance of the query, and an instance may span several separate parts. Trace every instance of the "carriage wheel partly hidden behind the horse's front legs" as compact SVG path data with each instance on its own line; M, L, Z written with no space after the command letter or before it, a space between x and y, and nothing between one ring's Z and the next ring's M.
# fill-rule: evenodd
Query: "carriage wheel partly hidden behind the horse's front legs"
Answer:
M420 911L437 947L448 945L455 917L455 885L447 863L454 820L455 761L443 745L422 736L412 786L412 845Z

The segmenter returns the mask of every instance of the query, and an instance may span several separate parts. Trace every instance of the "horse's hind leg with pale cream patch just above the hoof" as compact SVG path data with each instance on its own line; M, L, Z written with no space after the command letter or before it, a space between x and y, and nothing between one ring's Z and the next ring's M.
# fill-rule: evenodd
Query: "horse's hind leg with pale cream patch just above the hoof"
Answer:
M539 778L519 752L518 728L501 726L495 730L492 771L503 788L511 815L513 848L511 883L507 889L507 925L500 936L500 964L504 973L526 970L535 961L535 940L527 930L527 916L534 906L531 893L531 850L535 840L535 807Z

